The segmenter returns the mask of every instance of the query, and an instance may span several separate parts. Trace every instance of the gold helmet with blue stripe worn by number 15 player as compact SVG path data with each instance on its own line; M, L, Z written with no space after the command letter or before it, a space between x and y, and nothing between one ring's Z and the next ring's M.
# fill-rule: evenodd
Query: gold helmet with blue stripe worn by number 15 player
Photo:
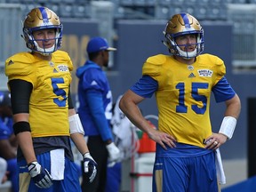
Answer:
M186 12L173 15L168 20L163 33L166 38L163 43L173 55L189 60L204 51L204 29L195 17ZM196 34L196 49L193 52L182 51L175 42L177 36L189 34Z

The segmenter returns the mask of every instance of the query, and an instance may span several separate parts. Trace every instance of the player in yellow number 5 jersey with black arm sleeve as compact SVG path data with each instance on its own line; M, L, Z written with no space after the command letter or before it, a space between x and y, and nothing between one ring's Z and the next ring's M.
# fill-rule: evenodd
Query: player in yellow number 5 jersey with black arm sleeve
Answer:
M31 52L5 61L19 142L20 191L81 191L70 138L84 156L88 180L92 182L97 172L70 97L72 61L58 50L62 28L50 9L32 9L23 22L23 38Z

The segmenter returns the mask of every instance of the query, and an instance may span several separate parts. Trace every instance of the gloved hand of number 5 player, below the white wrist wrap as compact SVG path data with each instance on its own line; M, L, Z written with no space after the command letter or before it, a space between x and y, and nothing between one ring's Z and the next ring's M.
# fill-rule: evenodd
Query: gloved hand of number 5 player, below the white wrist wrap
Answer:
M89 152L84 154L84 172L89 182L92 183L97 174L97 164Z

